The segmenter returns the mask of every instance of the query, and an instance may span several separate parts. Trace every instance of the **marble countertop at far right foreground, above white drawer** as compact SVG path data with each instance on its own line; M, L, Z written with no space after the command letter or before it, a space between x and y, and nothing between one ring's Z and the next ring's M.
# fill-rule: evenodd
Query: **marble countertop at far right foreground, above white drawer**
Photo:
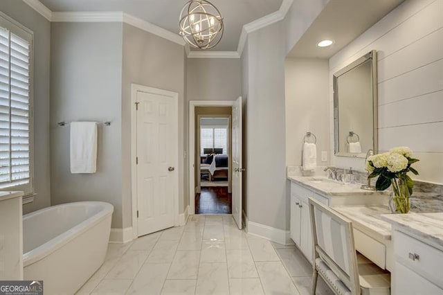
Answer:
M381 218L443 249L443 213L386 214Z

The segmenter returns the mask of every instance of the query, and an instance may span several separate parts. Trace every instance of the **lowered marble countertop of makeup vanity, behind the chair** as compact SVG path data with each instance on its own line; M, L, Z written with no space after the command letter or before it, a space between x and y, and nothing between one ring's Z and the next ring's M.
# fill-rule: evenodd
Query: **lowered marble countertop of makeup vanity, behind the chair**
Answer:
M390 213L388 206L336 206L332 207L352 221L352 226L376 240L391 239L391 224L381 215Z

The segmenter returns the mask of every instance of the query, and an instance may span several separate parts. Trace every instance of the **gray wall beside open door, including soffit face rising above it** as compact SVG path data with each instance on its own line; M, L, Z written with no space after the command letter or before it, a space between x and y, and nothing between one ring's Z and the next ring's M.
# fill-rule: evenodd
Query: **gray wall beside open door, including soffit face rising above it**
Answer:
M294 2L283 21L249 34L242 54L247 163L244 205L248 220L277 229L289 230L290 214L284 156L284 57L326 3Z

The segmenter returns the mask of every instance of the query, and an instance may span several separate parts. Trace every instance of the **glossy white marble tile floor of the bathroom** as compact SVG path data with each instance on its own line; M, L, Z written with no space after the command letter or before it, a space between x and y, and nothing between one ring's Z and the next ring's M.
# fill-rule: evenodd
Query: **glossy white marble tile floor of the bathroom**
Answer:
M311 265L295 245L239 231L231 215L192 215L185 226L109 244L105 263L77 294L295 294ZM319 278L317 294L333 294Z

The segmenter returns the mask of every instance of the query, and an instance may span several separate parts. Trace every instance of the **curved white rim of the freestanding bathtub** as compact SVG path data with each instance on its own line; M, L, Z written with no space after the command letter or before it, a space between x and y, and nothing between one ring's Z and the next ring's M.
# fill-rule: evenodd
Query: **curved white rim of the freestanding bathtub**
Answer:
M44 213L44 211L51 210L53 208L58 207L66 207L70 205L100 205L102 206L102 210L100 210L95 215L83 220L79 224L71 227L68 231L64 231L57 235L55 238L48 240L44 244L41 244L39 247L32 249L26 253L23 253L23 267L27 267L28 265L32 265L39 260L42 260L46 256L50 255L57 249L62 248L65 244L69 243L71 240L77 238L79 235L87 231L89 228L96 226L103 220L105 220L109 215L112 215L114 212L114 206L107 202L95 202L95 201L85 201L85 202L69 202L64 204L59 204L55 206L49 206L46 208L42 208L40 210L28 213L24 215L23 220L27 220L34 215L39 215Z

